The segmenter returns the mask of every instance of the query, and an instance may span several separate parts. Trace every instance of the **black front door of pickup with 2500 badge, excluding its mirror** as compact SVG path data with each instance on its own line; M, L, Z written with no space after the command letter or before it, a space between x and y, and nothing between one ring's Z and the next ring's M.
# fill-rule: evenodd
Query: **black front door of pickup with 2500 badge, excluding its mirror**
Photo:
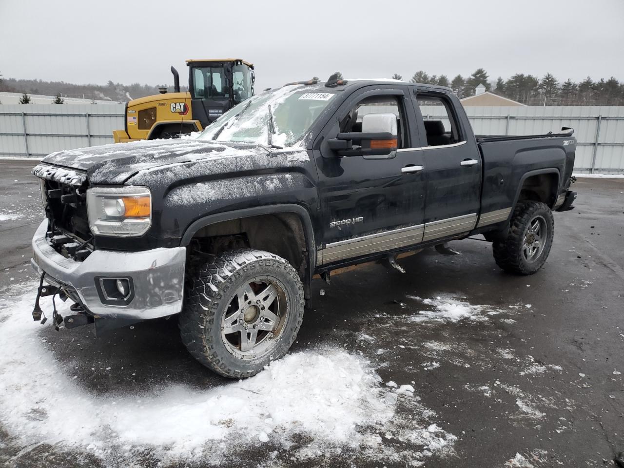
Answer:
M364 116L390 112L397 119L397 149L384 155L337 157L328 139L361 132ZM406 87L366 87L338 109L314 151L319 172L323 249L318 263L353 263L355 258L420 243L424 231L426 176L417 146L416 115Z

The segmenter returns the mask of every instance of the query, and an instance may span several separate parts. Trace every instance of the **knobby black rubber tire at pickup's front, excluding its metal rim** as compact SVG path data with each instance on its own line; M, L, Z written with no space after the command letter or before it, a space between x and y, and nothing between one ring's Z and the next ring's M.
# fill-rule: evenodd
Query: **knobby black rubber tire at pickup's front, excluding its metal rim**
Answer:
M258 358L240 359L223 343L222 319L239 285L263 275L283 285L288 314L272 349ZM187 271L178 326L182 342L200 363L224 377L246 378L286 354L303 321L304 306L303 283L288 261L263 250L232 250Z

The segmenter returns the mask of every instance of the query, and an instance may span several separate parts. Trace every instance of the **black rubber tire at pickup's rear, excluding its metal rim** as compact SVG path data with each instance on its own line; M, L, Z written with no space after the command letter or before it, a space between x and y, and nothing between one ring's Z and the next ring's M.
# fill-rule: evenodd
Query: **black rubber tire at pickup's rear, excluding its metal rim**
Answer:
M525 234L529 229L530 222L536 217L544 218L548 227L547 236L543 250L539 257L529 262L523 255ZM492 252L496 264L509 273L517 275L533 275L542 268L548 258L552 246L553 233L555 231L555 220L552 211L545 203L541 202L520 202L516 205L514 214L509 223L509 233L504 241L492 243Z

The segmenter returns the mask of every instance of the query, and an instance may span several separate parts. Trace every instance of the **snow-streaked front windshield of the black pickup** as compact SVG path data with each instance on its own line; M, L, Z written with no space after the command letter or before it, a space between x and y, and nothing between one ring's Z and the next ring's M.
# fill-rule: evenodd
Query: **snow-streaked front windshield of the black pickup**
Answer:
M334 92L310 92L309 89L301 89L300 85L263 92L232 107L208 125L197 138L267 144L270 105L275 124L272 143L292 146L305 136L333 97Z

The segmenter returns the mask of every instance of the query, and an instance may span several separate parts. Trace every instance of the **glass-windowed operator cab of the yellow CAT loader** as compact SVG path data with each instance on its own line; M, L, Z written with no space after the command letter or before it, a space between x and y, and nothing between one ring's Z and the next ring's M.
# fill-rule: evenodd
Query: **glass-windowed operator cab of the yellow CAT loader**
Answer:
M253 96L253 64L240 59L187 60L192 117L206 127Z

